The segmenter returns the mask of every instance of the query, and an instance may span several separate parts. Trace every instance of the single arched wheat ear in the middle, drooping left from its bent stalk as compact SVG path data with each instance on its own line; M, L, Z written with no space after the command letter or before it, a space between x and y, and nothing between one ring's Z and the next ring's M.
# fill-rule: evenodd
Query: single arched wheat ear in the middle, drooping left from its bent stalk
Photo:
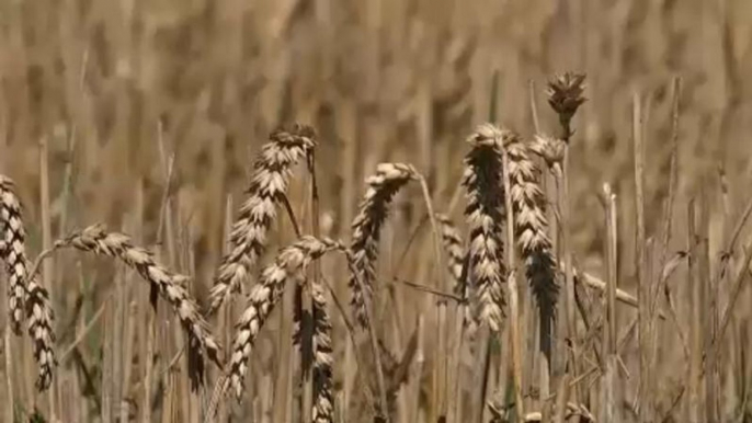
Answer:
M353 237L350 249L353 254L353 274L349 287L351 304L361 325L367 324L367 299L373 293L376 279L376 260L381 226L387 218L389 204L395 194L408 182L418 178L415 170L403 163L380 163L376 173L366 180L368 188L353 220ZM358 284L358 278L363 285Z

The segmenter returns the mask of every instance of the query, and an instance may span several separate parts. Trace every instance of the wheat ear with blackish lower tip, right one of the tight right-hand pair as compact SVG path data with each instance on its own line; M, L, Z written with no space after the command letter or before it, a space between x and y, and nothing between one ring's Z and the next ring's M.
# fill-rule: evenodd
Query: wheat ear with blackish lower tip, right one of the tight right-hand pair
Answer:
M509 157L515 238L525 260L527 281L538 304L542 334L549 333L559 286L556 282L556 260L547 233L546 196L539 185L540 171L517 136L510 137L504 148Z

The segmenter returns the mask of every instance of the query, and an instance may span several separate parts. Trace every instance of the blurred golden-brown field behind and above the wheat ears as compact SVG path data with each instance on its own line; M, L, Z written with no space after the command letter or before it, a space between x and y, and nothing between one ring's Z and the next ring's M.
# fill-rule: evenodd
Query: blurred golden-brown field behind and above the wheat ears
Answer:
M54 236L104 221L155 244L169 195L175 233L186 233L193 254L181 266L203 301L224 248L228 195L242 199L253 155L278 125L317 128L323 230L346 240L376 163L413 163L445 209L477 124L556 135L545 89L568 70L588 75L571 151L572 235L583 266L603 274L599 193L608 182L626 210L620 272L635 272L636 95L648 235L659 232L675 77L677 218L700 185L711 226L719 215L738 216L752 178L749 0L3 0L0 172L19 185L34 251L41 181L49 182ZM400 203L390 230L415 225L418 193ZM274 233L292 239L288 227ZM56 274L62 322L76 277Z

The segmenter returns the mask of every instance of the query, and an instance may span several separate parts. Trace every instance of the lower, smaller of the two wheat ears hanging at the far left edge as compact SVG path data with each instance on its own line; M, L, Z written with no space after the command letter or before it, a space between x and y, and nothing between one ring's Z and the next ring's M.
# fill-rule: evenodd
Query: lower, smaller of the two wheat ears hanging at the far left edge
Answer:
M8 244L5 241L0 241L0 254L5 254ZM25 260L24 271L29 272L32 264ZM29 324L29 336L33 343L33 354L39 374L36 378L36 388L45 390L49 388L53 381L53 373L57 366L57 358L55 358L55 332L53 331L53 322L55 315L49 305L49 294L44 286L39 285L38 276L33 275L25 287L25 313L26 323Z

